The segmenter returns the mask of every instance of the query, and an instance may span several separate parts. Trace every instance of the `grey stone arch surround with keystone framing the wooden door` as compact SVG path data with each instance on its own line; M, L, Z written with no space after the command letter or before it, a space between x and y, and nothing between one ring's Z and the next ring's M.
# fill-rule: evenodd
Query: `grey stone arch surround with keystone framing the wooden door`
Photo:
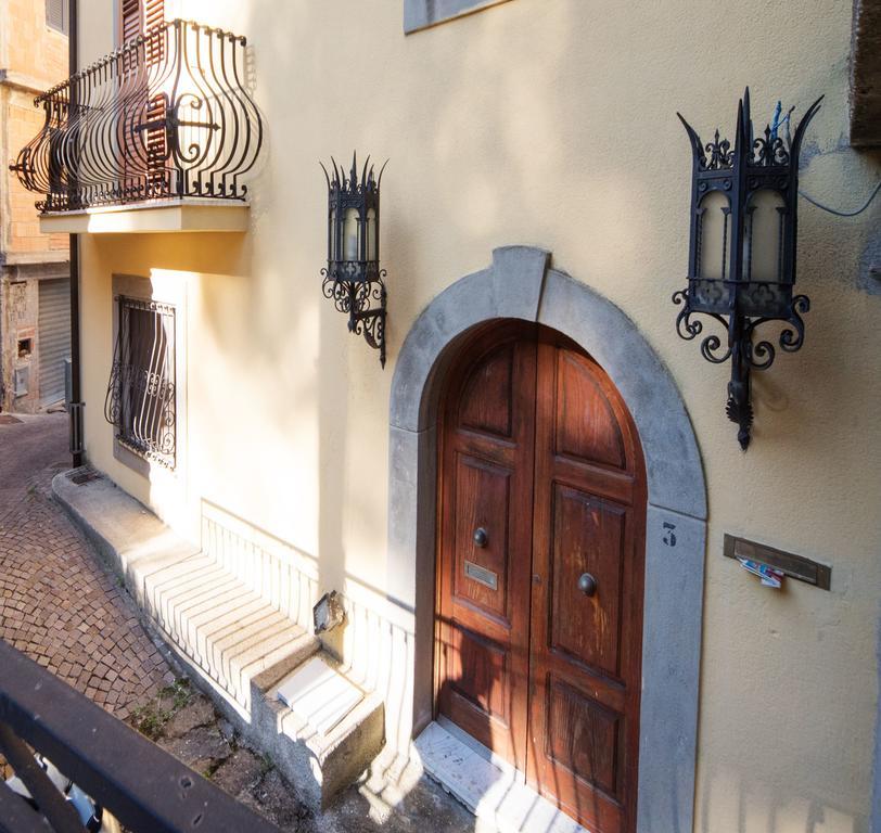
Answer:
M497 248L491 267L442 292L413 323L395 367L387 587L414 612L412 731L432 719L440 383L459 337L503 318L537 321L579 344L609 374L636 423L648 479L637 830L690 833L706 535L698 443L673 379L633 321L551 269L542 249Z

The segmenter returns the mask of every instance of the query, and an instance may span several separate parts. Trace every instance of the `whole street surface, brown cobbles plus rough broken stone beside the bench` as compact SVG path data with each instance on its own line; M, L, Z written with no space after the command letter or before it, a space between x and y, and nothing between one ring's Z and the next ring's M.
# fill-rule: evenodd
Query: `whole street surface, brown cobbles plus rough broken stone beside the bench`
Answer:
M330 810L312 816L272 761L244 746L181 677L144 629L122 582L52 500L52 477L71 464L66 414L15 419L0 420L0 639L282 831L475 829L471 813L424 778L403 800L388 803L367 783L356 784Z

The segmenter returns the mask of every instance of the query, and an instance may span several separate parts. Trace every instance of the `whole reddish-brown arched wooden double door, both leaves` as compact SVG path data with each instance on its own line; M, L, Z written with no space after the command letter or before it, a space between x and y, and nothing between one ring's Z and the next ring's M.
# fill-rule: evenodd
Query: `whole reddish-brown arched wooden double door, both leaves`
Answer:
M597 833L636 828L646 476L602 369L500 322L442 401L435 707Z

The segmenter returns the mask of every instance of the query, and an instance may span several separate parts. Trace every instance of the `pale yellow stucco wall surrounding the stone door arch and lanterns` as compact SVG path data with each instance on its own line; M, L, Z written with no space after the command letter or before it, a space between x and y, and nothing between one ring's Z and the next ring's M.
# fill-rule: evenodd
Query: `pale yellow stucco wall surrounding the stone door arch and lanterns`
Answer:
M183 0L181 0L183 2ZM112 48L110 0L82 2L84 54ZM848 149L850 0L601 4L514 0L405 37L398 0L187 0L247 35L267 129L245 235L86 238L90 460L195 535L210 500L319 559L324 588L385 581L388 393L416 316L495 246L525 243L638 324L694 423L708 485L695 830L865 833L881 579L881 287L864 253L879 208L800 206L807 341L756 374L748 453L724 413L727 367L675 334L690 151L681 111L731 136L748 84L808 131L802 188L853 207L881 176ZM319 159L391 157L383 180L390 364L320 292ZM860 265L861 264L861 265ZM186 282L187 461L152 486L113 459L101 415L111 274ZM762 589L722 558L742 534L832 565L832 591Z

